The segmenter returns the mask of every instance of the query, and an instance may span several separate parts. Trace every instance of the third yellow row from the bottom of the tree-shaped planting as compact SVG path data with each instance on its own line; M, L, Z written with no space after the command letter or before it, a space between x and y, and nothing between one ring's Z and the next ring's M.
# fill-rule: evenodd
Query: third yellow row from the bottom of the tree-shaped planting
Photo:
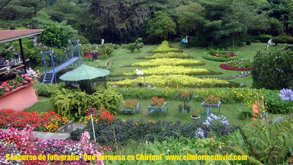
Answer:
M175 65L175 66L192 66L192 65L201 65L202 63L198 60L182 60L182 59L154 59L146 62L136 62L132 66L142 66L142 67L154 67L161 65Z

